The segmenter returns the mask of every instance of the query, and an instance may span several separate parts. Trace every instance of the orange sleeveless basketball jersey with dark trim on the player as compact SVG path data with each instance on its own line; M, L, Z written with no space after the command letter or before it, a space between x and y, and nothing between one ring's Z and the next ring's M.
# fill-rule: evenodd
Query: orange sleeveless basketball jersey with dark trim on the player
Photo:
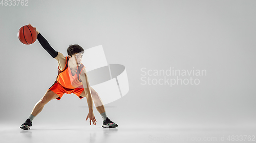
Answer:
M80 74L82 73L83 68L86 68L81 64L76 69L75 75L72 75L72 72L69 67L69 58L66 56L66 65L63 70L60 70L57 76L57 81L62 87L68 88L68 89L75 89L75 88L83 88L82 81L80 79Z

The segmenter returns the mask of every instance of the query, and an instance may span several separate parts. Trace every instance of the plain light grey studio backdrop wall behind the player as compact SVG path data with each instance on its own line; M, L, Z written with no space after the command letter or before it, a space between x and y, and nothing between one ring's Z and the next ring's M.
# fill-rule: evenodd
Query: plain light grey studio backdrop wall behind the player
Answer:
M66 56L71 44L102 45L109 64L125 66L129 93L105 105L121 125L255 126L255 6L255 1L141 0L0 5L0 120L22 124L58 73L56 60L38 41L19 42L19 28L31 23ZM155 73L170 67L207 74L180 76L198 78L198 85L170 87ZM49 102L34 122L74 117L83 122L86 106L85 99L64 95Z

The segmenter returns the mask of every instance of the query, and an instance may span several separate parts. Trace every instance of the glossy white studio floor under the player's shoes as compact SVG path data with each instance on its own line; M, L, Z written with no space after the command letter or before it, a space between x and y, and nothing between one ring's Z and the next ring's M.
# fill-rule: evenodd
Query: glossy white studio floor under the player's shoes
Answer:
M90 126L33 125L22 130L19 125L1 125L0 142L255 142L256 129L249 128L171 128L138 127L130 124L115 129Z

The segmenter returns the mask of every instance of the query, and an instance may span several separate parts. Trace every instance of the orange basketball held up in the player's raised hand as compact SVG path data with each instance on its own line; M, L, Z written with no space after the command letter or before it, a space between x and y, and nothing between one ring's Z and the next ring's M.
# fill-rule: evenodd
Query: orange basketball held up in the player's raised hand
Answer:
M18 39L23 44L29 45L35 42L37 33L35 29L30 25L25 25L19 28Z

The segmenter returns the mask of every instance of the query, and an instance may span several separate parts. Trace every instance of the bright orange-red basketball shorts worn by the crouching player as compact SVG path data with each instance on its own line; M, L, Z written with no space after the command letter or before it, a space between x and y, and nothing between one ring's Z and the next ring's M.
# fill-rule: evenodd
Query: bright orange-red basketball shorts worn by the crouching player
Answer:
M68 88L62 87L62 85L60 85L59 82L57 82L57 81L55 81L53 83L53 85L51 86L51 88L49 88L49 90L53 91L54 93L56 93L59 96L58 98L56 98L57 100L60 100L60 98L65 93L67 93L67 94L73 93L76 96L78 96L80 99L83 98L82 96L80 96L81 93L83 92L83 88L68 89Z

